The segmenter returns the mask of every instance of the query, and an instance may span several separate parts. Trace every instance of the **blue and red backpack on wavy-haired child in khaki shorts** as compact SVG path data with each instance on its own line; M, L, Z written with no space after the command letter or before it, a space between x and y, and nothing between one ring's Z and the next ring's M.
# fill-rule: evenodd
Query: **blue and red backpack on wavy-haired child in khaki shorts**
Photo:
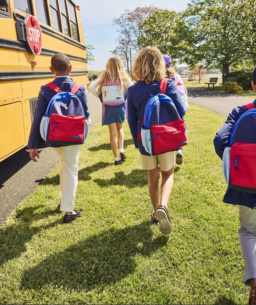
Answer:
M167 81L167 78L162 79L161 93L148 100L141 133L137 138L151 155L159 155L187 145L186 122L180 118L172 99L165 95Z

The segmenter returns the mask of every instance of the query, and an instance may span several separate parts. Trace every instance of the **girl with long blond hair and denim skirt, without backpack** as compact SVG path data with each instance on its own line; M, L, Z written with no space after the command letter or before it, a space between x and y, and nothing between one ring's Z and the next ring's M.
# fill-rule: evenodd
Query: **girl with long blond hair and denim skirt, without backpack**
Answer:
M118 56L111 56L108 59L106 65L106 71L102 72L101 75L94 81L88 90L96 97L99 97L101 102L103 101L102 90L106 86L118 86L118 88L123 92L124 99L126 98L126 90L128 87L132 86L130 76L124 69L122 60ZM97 89L98 87L98 89ZM124 100L123 100L124 101ZM115 104L114 104L115 105ZM120 164L121 160L126 159L126 155L123 149L124 133L123 133L123 122L125 120L125 103L120 105L109 106L104 105L104 117L102 120L102 125L108 125L109 135L110 135L110 145L114 154L115 165ZM118 156L118 145L119 144L119 154Z

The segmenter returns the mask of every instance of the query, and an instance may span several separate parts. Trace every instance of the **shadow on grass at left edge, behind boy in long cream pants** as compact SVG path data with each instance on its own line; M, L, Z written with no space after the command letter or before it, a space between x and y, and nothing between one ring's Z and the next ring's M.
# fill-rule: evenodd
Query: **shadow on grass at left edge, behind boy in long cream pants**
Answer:
M59 206L55 210L46 210L41 212L43 205L33 207L17 208L16 222L14 224L7 224L5 228L0 231L0 266L8 260L19 257L27 250L27 242L29 242L34 235L55 227L59 221L53 221L41 226L35 226L35 221L47 218L49 215L62 213ZM40 212L38 211L40 209Z

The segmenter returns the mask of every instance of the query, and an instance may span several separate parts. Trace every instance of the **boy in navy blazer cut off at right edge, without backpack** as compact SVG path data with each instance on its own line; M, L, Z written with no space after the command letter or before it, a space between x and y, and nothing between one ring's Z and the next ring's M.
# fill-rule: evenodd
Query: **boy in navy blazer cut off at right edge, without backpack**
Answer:
M252 79L252 88L256 92L256 66L252 71ZM254 104L255 102L256 100ZM221 159L225 147L229 145L229 137L235 123L246 111L243 106L235 107L215 135L214 147ZM245 263L244 283L251 286L249 304L256 304L256 194L240 192L228 187L223 202L239 205L241 227L238 229L238 236Z

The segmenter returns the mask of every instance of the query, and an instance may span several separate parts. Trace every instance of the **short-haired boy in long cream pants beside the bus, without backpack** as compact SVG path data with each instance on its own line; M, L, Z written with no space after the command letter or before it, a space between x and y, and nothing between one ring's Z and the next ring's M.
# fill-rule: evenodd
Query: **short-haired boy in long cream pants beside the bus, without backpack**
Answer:
M69 77L71 69L72 66L69 58L65 54L57 53L52 56L50 70L55 74L55 80L52 83L63 92L71 92L75 85L75 82ZM41 120L46 112L49 102L55 94L56 92L47 85L41 86L27 145L29 148L30 158L34 162L37 162L36 156L39 159L37 142L40 135ZM87 107L86 91L84 86L80 86L75 95L79 98L82 104L85 118L88 119L90 113ZM77 217L80 217L83 213L83 210L74 210L76 188L78 184L78 158L81 145L65 146L50 143L50 146L53 147L60 156L60 188L62 190L60 210L65 212L63 222L69 223Z

